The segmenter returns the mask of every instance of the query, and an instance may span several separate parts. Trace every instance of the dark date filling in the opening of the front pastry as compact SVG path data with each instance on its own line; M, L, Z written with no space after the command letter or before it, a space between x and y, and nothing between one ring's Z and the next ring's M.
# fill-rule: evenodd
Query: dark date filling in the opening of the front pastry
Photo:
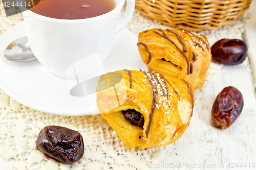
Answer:
M132 125L143 127L144 117L140 112L137 112L134 109L123 110L122 111L124 118Z

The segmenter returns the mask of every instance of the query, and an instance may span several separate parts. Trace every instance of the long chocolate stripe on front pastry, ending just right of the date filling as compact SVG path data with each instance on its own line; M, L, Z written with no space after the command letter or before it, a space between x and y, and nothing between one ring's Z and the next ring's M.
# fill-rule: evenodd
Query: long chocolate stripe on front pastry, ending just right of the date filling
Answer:
M142 71L140 69L140 71ZM151 85L151 90L152 90L152 107L151 107L151 113L150 113L150 122L148 122L147 128L146 128L146 136L148 135L148 133L150 132L150 127L152 124L152 117L153 117L153 113L156 109L156 104L157 104L157 86L152 82L151 78L147 76L146 71L142 71L144 73L144 75L146 76L147 80L150 82Z

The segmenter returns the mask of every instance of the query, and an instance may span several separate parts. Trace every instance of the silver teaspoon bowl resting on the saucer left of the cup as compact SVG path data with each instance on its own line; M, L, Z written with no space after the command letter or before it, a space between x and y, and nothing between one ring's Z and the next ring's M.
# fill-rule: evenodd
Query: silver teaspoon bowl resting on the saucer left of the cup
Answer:
M31 61L36 59L31 51L28 37L18 38L10 43L5 52L4 56L10 61Z

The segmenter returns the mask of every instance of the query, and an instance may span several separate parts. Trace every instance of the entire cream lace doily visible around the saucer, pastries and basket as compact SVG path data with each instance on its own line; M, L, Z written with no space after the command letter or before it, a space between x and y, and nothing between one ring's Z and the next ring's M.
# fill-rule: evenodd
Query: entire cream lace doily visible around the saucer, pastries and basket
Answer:
M0 2L0 35L23 20L22 14L6 17ZM122 12L123 13L123 12ZM210 45L221 38L240 38L246 19L224 26L217 31L203 31ZM126 27L136 36L152 28L170 28L145 17L135 9ZM195 91L196 103L203 95L207 84L221 65L211 63L205 85ZM195 113L196 114L196 113ZM35 140L39 131L47 125L58 125L79 131L84 138L84 155L72 165L57 163L36 150ZM148 163L155 164L166 147L149 149L128 149L124 146L109 124L100 116L57 116L42 113L11 99L0 90L0 155L6 160L15 159L14 168L23 169L149 169Z

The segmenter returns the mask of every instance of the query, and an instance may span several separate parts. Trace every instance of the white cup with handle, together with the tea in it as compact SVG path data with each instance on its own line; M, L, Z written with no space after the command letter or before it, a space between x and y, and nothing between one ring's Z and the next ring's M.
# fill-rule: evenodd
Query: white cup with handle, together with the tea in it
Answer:
M126 10L118 21L125 1ZM23 16L37 60L53 75L67 78L67 68L84 58L97 56L102 63L134 9L134 0L44 0Z

